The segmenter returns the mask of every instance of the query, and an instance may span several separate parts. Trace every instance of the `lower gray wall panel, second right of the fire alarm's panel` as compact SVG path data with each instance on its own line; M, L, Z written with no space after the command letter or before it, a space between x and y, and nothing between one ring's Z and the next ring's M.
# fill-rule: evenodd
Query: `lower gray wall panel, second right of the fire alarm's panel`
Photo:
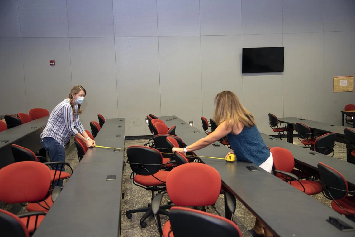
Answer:
M117 96L126 136L149 135L147 114L160 116L158 37L115 38Z

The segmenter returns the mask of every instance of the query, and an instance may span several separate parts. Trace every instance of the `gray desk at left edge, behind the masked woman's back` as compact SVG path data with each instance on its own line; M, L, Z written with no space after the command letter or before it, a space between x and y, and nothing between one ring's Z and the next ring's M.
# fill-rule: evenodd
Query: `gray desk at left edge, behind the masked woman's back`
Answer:
M9 140L0 143L0 169L14 162L11 144L20 145L37 152L42 149L40 134L47 125L49 116L18 125L0 132L0 140Z

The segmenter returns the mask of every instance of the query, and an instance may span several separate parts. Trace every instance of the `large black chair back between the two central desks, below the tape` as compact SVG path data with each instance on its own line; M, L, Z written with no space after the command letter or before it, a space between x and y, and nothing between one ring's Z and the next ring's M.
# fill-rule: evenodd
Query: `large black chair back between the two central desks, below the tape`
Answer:
M127 159L134 173L140 175L153 175L162 167L162 154L152 147L129 146Z

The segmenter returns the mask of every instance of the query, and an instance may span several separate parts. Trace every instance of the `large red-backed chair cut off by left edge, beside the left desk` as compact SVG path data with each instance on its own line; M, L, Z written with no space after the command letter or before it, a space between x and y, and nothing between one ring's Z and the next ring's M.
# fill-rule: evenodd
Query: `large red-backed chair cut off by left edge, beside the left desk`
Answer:
M40 162L16 162L0 169L0 199L5 203L29 203L27 210L29 205L41 205L48 211L60 193L60 188L56 187L50 195L50 185L49 169ZM29 232L34 232L43 219L44 214L37 213L24 215L20 220Z

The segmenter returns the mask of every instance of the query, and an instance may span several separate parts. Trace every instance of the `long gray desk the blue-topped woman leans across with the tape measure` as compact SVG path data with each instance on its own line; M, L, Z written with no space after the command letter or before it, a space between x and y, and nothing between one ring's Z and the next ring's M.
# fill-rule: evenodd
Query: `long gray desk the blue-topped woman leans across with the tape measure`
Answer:
M176 125L175 133L186 145L206 136L176 116L164 116L160 119L169 127ZM195 153L197 156L224 158L229 151L225 146L210 145ZM246 166L253 165L252 163L230 163L209 158L200 160L217 169L228 190L260 219L274 236L354 235L338 230L326 219L333 216L355 226L353 222L261 168L258 172L249 171Z

